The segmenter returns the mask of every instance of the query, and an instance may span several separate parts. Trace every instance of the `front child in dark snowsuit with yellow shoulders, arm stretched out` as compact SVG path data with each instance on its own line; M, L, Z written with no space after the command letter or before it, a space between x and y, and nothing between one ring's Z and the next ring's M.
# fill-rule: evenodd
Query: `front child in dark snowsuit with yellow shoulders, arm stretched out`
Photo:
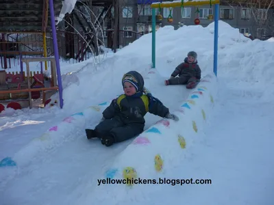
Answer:
M98 137L105 146L125 141L142 133L147 112L162 118L179 120L162 102L154 98L144 87L142 75L136 71L127 72L122 79L125 94L112 100L103 111L103 118L95 130L86 129L88 139ZM143 94L143 92L145 94Z

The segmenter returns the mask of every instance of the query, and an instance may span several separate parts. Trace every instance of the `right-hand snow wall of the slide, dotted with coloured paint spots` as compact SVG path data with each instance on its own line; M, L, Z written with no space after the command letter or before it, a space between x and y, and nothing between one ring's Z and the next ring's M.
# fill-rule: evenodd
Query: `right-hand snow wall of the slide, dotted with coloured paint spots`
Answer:
M158 178L170 176L175 167L184 166L184 159L189 156L195 139L204 137L203 126L208 121L214 105L216 91L216 77L214 74L208 74L175 112L179 116L179 122L162 119L136 137L116 157L116 161L105 175L98 179L102 181L99 187L94 188L95 193L84 200L86 202L101 200L103 204L108 201L105 197L109 197L112 202L115 200L116 203L113 204L119 204L122 200L125 202L129 191L135 190L134 194L130 195L138 198L142 193L151 191L149 188L151 186L161 187L155 184L138 184L138 180L155 180L157 184ZM127 181L132 178L136 179L135 184ZM115 180L119 179L125 179L125 182L129 182L127 185L134 189L127 189L129 187L125 184L119 184L119 189L114 189L110 181L117 186ZM95 197L101 195L104 196L101 199Z

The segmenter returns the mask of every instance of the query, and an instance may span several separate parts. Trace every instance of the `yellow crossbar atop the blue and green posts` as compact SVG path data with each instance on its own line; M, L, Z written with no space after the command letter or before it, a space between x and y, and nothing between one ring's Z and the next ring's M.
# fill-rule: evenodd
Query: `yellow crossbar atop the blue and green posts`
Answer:
M184 7L192 6L192 5L210 5L210 4L219 4L220 0L211 0L211 1L203 1L203 0L194 0L194 1L184 1ZM180 7L182 5L182 1L164 1L162 3L152 3L150 8L175 8Z

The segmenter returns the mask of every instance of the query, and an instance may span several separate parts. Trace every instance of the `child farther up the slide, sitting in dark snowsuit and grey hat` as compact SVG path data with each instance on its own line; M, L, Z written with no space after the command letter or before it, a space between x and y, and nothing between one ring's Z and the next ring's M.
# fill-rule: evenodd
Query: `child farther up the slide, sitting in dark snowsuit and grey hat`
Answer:
M176 77L179 75L179 77ZM201 79L201 69L197 61L197 53L190 51L188 57L171 74L169 80L164 81L165 85L186 85L187 88L195 87Z

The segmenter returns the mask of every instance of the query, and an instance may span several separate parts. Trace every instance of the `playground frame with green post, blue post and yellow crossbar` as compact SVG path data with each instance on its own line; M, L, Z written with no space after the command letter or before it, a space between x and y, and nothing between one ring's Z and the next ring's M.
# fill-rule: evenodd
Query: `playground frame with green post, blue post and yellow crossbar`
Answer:
M220 0L182 0L182 1L164 1L151 3L152 9L152 64L151 68L155 68L155 33L156 33L156 14L155 9L158 8L177 8L191 5L214 5L214 61L213 72L217 76L217 59L218 59L218 33L219 33L219 5Z

